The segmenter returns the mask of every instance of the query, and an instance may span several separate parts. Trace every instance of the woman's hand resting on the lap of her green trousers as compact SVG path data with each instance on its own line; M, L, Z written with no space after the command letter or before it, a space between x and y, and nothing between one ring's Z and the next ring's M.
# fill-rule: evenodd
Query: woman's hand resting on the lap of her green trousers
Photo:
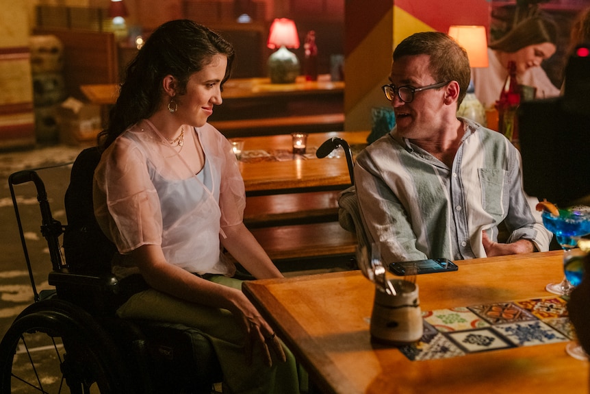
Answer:
M280 360L285 362L287 358L283 351L283 345L281 345L281 341L277 338L277 334L266 323L266 320L260 316L258 310L251 302L246 299L246 296L242 294L242 297L243 299L238 306L238 312L233 311L233 314L238 317L240 325L244 327L246 332L246 362L248 365L251 364L255 346L261 348L261 354L264 357L266 365L269 367L272 365L271 350L279 356Z

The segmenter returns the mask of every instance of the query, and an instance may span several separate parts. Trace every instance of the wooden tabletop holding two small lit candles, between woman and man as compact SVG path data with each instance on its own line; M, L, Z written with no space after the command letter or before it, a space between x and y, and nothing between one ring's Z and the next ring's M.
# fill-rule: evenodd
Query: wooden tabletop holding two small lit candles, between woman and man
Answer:
M365 145L369 132L313 133L307 137L308 151L312 153L322 143L334 136L344 138L353 145ZM291 136L262 136L242 138L245 151L290 151ZM343 190L350 186L348 164L344 155L340 158L295 158L275 162L240 162L246 194L296 193L314 190Z

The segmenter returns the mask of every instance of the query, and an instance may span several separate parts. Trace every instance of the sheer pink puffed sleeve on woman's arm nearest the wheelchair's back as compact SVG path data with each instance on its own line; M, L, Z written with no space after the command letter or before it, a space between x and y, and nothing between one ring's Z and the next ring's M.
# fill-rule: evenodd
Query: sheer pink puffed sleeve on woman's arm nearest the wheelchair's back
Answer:
M94 214L122 254L162 244L162 211L146 158L133 141L118 138L94 171Z

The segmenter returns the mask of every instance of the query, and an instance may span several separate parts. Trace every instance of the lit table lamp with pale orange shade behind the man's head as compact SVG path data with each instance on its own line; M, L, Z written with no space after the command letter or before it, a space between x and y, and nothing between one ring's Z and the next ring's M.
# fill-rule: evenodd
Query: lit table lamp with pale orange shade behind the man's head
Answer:
M484 26L451 26L448 34L465 48L472 68L487 67L487 37ZM472 119L480 125L487 125L485 108L475 95L473 81L470 81L467 95L459 106L457 115Z

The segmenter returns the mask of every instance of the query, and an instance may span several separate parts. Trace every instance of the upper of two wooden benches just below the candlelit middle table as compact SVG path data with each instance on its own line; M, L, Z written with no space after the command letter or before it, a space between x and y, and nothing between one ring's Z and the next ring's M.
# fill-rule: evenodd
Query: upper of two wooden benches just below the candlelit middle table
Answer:
M339 190L246 197L244 224L250 229L338 220Z

